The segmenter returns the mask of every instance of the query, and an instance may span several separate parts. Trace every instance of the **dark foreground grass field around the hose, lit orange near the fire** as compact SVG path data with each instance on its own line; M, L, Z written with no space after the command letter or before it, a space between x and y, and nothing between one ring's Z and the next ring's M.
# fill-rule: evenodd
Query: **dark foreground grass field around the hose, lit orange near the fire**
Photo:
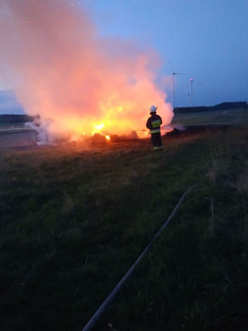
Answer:
M94 330L247 330L247 143L2 150L1 330L82 330L196 182Z

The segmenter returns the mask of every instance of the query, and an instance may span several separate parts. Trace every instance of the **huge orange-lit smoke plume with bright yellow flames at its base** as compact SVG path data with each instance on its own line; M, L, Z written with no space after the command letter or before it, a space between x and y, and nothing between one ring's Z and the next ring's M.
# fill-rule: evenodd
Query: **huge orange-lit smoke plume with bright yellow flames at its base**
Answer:
M151 105L170 123L155 52L101 38L76 1L1 0L0 15L1 78L29 115L51 119L50 136L140 136Z

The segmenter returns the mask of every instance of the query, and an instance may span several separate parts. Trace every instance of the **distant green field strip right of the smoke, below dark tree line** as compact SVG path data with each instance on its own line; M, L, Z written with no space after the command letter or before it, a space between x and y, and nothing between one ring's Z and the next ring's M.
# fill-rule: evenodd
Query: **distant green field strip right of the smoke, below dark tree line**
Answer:
M232 109L226 111L209 111L201 113L176 114L171 124L248 124L247 109Z

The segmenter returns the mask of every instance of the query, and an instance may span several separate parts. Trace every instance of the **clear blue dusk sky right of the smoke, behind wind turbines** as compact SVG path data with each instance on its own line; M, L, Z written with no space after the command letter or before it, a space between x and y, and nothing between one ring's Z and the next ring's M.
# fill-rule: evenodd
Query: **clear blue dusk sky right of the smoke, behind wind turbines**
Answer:
M175 107L248 101L247 0L88 0L102 36L153 47L175 75ZM172 69L173 68L173 69ZM165 89L172 103L172 81Z

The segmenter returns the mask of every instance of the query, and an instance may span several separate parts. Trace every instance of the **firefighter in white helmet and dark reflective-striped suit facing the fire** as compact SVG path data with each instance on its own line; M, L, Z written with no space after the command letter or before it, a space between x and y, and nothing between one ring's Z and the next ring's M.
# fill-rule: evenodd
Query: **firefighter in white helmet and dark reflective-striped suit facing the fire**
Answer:
M151 133L153 150L162 151L163 146L162 146L161 133L160 133L160 125L162 124L162 118L156 114L156 111L157 111L157 107L151 106L150 108L151 117L148 118L146 126Z

